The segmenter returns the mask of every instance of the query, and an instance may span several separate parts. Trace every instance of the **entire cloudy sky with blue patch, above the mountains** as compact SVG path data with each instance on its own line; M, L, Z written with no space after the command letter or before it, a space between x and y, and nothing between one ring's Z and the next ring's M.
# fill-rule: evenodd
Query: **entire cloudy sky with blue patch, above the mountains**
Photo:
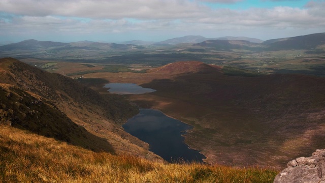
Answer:
M325 0L0 0L0 42L262 40L325 32Z

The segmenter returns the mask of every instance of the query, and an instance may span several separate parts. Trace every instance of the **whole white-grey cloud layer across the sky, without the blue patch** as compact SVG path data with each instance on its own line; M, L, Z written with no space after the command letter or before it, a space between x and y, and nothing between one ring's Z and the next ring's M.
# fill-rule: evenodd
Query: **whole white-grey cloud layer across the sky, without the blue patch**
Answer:
M325 1L310 1L303 9L231 10L212 9L200 1L189 0L2 0L0 35L105 35L141 31L198 32L199 35L204 31L247 30L249 33L254 29L276 32L275 29L309 28L324 32L324 9Z

